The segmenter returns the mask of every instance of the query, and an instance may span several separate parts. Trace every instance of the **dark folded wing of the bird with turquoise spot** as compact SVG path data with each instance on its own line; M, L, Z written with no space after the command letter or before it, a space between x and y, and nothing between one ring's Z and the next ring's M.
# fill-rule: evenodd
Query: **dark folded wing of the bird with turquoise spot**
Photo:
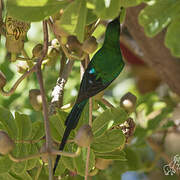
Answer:
M102 77L98 77L98 75L99 74L96 72L95 68L89 64L83 75L78 98L76 100L77 103L96 95L109 86L114 80L104 83Z

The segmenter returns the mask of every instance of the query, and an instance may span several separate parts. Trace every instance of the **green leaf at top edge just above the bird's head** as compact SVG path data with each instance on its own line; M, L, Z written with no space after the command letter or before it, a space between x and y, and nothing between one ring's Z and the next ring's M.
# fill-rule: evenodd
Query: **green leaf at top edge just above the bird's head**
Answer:
M94 13L102 19L113 19L119 15L120 0L94 0Z

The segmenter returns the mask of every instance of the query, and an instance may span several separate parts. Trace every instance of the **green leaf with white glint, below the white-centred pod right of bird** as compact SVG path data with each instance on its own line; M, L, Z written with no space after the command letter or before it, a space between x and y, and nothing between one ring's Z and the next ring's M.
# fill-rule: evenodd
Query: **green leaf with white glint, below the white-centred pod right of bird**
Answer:
M93 121L92 131L94 136L100 136L112 126L122 124L127 118L126 111L121 107L107 109Z

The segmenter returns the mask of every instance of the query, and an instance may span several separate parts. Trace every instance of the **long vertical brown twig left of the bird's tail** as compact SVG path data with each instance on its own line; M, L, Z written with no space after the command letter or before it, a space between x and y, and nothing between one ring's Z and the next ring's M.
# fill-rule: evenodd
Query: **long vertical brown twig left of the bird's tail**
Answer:
M43 53L37 63L37 79L40 86L40 92L42 96L42 106L43 106L43 115L44 115L44 127L45 127L45 134L46 134L46 149L48 152L51 151L52 148L52 140L51 140L51 134L50 134L50 124L49 124L49 117L48 117L48 106L46 102L46 96L45 96L45 89L43 84L43 77L41 72L41 64L44 59L44 57L47 55L48 50L48 28L47 28L47 21L43 21L43 32L44 32L44 47L43 47ZM48 156L48 166L49 166L49 180L53 179L52 174L52 160L51 157Z

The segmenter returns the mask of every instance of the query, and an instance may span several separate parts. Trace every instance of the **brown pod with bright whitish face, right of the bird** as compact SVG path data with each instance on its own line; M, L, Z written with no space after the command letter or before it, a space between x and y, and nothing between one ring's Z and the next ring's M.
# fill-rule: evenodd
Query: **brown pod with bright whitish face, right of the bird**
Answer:
M136 96L128 92L121 98L120 106L123 107L127 112L131 113L135 110L136 100Z

